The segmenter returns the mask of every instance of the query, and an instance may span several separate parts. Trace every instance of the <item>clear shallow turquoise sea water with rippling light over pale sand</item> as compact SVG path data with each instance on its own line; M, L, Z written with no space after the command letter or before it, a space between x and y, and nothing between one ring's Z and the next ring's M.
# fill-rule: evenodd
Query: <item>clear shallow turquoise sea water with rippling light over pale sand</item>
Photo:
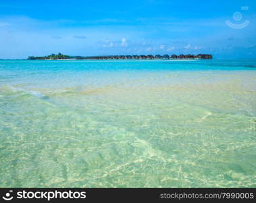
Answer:
M0 61L0 187L256 187L256 60Z

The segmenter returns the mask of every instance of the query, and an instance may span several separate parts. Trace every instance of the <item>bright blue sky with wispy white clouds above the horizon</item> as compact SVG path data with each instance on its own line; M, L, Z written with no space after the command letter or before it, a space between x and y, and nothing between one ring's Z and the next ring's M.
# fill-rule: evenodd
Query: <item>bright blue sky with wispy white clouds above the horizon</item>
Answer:
M227 20L249 24L237 29ZM256 58L255 33L255 0L0 1L0 58L57 52Z

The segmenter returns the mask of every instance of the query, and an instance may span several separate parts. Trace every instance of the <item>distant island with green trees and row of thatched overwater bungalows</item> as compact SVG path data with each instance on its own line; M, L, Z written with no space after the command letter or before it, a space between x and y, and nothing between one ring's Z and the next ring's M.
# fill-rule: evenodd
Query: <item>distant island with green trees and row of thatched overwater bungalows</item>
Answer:
M29 56L28 60L210 60L211 54L173 54L173 55L97 55L97 56L71 56L62 53L45 56Z

